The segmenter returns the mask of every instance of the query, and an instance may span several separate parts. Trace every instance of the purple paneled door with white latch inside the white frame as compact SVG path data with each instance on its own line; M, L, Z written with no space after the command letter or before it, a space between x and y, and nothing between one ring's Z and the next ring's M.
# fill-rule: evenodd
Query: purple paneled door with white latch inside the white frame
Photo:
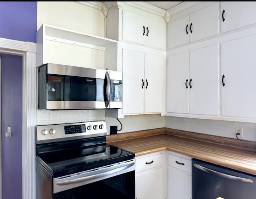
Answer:
M22 57L1 56L2 198L22 199ZM11 137L5 137L11 127Z

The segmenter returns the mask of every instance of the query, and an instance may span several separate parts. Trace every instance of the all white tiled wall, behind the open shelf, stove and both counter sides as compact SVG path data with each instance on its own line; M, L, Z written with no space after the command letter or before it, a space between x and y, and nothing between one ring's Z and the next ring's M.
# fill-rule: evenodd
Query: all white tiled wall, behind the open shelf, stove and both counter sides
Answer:
M95 36L105 36L105 17L102 12L77 2L38 2L37 17L37 29L44 23ZM53 44L48 42L48 45L51 49L48 57L53 63L89 68L104 67L102 51L70 47L67 44L56 44L56 42ZM51 57L51 55L54 56ZM37 125L96 120L106 120L108 134L109 127L112 125L117 125L118 130L121 128L116 118L105 117L105 110L37 110ZM256 124L254 123L159 115L129 116L120 119L120 122L123 128L118 133L169 127L224 137L233 137L234 127L241 126L243 127L241 139L256 141Z

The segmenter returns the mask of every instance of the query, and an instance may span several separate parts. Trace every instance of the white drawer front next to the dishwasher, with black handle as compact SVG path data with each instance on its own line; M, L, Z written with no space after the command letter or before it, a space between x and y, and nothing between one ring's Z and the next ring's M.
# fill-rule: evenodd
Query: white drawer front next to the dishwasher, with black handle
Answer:
M192 173L191 159L168 154L168 165L188 173Z

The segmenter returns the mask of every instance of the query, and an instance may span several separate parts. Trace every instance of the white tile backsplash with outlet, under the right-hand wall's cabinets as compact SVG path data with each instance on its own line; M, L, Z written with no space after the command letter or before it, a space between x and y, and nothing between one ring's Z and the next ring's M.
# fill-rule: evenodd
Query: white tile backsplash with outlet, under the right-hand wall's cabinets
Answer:
M242 127L243 137L240 139L256 141L256 123L166 116L165 127L230 138L235 127Z

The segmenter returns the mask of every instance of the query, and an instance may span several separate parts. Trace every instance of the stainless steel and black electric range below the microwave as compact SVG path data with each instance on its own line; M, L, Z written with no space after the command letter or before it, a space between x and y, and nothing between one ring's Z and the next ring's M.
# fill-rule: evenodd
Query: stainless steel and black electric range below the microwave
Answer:
M105 121L36 127L37 199L135 199L134 153L106 144Z

